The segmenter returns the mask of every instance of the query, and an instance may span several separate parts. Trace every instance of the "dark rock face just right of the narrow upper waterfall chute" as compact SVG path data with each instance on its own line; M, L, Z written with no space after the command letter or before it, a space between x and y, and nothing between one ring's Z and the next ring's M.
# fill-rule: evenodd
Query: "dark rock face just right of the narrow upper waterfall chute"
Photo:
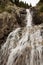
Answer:
M39 16L38 10L33 7L33 8L30 8L30 11L33 11L33 15L32 15L32 17L33 17L33 21L32 21L33 24L40 25L42 23L42 17Z

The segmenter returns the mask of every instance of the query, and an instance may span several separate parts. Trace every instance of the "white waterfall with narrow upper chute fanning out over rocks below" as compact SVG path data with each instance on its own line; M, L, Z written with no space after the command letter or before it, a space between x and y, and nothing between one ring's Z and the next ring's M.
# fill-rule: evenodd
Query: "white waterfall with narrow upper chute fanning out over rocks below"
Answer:
M32 26L30 9L26 12L27 25L24 29L17 28L9 34L0 50L0 65L43 65L41 27ZM22 62L19 58L22 58Z

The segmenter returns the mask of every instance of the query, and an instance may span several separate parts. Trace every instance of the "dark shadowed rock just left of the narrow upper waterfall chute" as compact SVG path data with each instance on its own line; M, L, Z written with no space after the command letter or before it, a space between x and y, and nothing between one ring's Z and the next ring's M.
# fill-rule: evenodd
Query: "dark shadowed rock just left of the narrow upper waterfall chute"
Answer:
M27 14L26 9L24 9L19 11L19 15L16 16L17 22L20 25L20 27L26 26L26 20L25 20L26 14Z

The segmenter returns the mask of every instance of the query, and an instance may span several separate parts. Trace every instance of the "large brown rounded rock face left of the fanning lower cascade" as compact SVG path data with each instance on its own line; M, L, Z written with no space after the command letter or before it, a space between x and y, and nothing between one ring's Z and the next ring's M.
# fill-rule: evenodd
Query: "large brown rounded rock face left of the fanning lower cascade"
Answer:
M15 14L3 12L0 14L0 44L4 42L8 34L18 27Z

